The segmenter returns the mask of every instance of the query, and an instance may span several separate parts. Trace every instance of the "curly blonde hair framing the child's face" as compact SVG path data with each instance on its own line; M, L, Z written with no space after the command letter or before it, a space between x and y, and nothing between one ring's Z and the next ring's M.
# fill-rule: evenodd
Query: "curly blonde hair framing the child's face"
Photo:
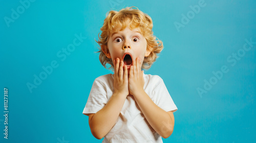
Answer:
M134 9L135 8L135 9ZM121 26L120 31L127 26L133 30L138 28L140 33L145 37L147 42L147 50L150 50L150 55L144 58L142 68L149 69L151 65L156 61L157 54L163 50L163 43L161 40L153 35L153 22L150 16L143 13L136 7L126 7L120 11L109 11L104 19L103 26L100 28L102 31L97 43L101 45L107 45L109 36L111 33L117 31L117 27ZM106 68L106 64L109 63L114 68L112 59L106 57L102 49L99 49L100 63ZM108 49L106 49L108 51ZM109 52L109 51L108 51Z

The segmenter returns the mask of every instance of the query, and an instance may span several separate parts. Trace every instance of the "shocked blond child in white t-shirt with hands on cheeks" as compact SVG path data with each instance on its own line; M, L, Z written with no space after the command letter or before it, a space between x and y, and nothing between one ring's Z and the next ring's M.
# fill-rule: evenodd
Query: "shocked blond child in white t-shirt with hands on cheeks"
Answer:
M83 114L103 142L162 142L174 129L177 110L163 80L145 75L163 49L150 16L134 7L110 11L99 37L101 64L114 75L95 79Z

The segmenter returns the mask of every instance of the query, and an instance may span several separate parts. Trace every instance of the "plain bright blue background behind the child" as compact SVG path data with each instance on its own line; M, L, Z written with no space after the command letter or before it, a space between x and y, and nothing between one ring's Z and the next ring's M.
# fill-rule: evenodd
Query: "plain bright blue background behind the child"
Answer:
M189 6L200 1L35 1L24 9L19 1L1 1L0 142L101 142L82 114L94 79L112 73L100 64L95 39L106 12L127 6L152 17L154 34L164 44L145 71L164 80L178 107L174 132L163 141L255 142L256 44L239 59L229 56L243 52L245 39L256 41L256 2L205 0L200 11L192 12ZM8 23L12 9L21 14ZM190 14L189 21L182 23L182 14ZM183 26L176 28L175 22ZM66 59L58 57L75 34L86 39ZM34 75L52 61L58 67L30 92L27 83L34 84ZM222 66L228 72L217 79L212 72ZM205 90L210 80L212 87ZM9 91L8 139L4 87ZM205 90L201 96L198 88Z

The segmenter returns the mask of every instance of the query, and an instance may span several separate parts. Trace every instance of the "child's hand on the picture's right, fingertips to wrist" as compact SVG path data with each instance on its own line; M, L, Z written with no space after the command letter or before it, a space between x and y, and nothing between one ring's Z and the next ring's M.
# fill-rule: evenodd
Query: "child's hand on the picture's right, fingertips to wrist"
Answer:
M135 96L135 94L144 91L144 78L143 71L141 70L141 61L139 58L136 58L136 61L133 61L133 64L130 68L129 75L129 91Z

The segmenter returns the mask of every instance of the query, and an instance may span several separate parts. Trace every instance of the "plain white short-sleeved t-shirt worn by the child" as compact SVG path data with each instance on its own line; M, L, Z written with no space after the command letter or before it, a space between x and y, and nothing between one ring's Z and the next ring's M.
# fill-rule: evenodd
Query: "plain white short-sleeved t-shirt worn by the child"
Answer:
M169 92L159 76L144 75L144 90L163 110L177 110ZM114 93L112 74L95 79L83 114L102 109ZM102 142L163 142L162 137L148 124L133 96L127 96L116 124Z

